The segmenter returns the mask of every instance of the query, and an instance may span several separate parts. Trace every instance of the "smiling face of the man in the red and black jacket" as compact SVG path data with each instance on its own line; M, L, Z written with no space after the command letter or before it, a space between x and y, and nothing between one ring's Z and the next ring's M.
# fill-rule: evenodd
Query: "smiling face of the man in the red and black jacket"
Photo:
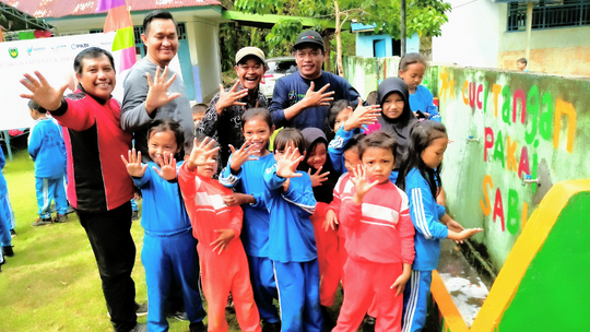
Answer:
M82 59L82 73L75 78L87 94L103 99L110 97L117 82L115 69L105 55Z

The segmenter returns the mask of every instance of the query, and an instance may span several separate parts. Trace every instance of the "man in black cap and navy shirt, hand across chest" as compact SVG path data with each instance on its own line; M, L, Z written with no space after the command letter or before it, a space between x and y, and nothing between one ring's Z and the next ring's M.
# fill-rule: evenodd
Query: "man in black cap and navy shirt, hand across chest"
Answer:
M343 78L321 70L328 54L318 33L300 33L294 48L299 70L276 81L270 107L272 120L276 128L326 130L330 103L345 99L356 107L358 92Z

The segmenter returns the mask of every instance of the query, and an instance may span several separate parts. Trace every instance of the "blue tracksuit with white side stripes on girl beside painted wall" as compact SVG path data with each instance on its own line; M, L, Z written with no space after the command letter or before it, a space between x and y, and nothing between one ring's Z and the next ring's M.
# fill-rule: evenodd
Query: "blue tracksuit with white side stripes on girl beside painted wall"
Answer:
M428 182L417 168L405 177L405 193L410 200L410 217L416 229L416 256L403 294L402 331L414 332L422 331L426 322L432 273L438 265L440 239L447 238L449 229L438 222L445 215L445 208L436 203Z

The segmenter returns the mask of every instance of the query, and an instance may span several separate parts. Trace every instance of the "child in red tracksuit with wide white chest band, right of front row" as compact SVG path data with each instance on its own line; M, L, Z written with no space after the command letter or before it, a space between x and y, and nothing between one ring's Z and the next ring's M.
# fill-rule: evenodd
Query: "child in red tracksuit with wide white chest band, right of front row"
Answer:
M333 331L356 331L375 301L375 331L401 331L402 293L414 260L414 228L408 197L389 180L396 165L396 140L387 132L363 138L353 168L352 197L345 197L340 222L346 227L346 290Z

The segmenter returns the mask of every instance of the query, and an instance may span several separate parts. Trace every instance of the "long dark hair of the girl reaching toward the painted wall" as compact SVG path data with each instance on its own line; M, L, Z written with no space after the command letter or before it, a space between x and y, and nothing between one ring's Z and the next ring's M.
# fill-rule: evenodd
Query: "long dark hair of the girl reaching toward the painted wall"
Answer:
M401 163L400 174L396 183L401 190L405 190L405 177L410 170L417 168L422 177L428 182L433 198L437 197L437 186L442 186L440 179L442 164L436 169L428 168L422 159L422 153L434 140L441 138L447 138L447 129L445 128L445 124L440 122L425 120L412 126L412 129L410 129L408 153Z

